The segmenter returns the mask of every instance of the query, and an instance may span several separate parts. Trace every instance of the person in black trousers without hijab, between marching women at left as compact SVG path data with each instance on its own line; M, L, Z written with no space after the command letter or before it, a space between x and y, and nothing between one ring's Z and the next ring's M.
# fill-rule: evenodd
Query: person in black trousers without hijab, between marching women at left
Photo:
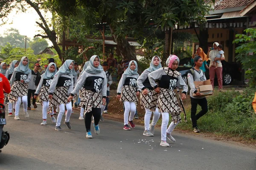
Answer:
M31 71L31 81L29 82L29 90L28 90L28 110L31 110L31 94L32 97L35 95L35 90L40 82L41 74L38 71L40 68L40 65L38 63L35 64L34 70ZM35 104L35 98L32 99L32 104L34 108L37 108L37 105Z

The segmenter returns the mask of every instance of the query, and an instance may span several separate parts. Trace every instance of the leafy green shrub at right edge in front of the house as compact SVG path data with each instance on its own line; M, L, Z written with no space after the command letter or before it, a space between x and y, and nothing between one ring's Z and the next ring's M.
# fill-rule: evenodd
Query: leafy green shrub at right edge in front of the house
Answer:
M245 77L249 79L250 87L256 88L256 28L247 28L246 34L236 34L233 43L239 43L236 48L236 59L241 62Z

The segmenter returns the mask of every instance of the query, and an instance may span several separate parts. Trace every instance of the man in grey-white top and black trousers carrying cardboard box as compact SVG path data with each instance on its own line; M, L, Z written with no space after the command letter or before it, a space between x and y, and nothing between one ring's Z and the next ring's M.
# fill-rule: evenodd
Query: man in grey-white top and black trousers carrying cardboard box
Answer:
M200 92L196 90L195 83L194 83L194 81L204 82L206 80L204 71L200 69L202 65L203 65L203 59L201 59L201 57L196 56L194 58L194 66L192 67L192 69L188 71L188 83L190 86L190 99L191 99L191 120L192 120L192 126L194 127L195 133L200 132L197 126L197 120L201 116L204 116L204 114L206 114L208 111L207 99L205 98L204 95L200 94ZM200 105L202 110L196 115L197 105Z

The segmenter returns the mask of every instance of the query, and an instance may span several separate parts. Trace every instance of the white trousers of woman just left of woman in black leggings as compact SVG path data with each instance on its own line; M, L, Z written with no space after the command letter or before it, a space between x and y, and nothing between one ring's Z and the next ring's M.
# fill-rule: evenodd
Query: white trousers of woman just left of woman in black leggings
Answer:
M66 103L66 104L58 105L59 106L59 113L58 113L58 117L57 117L56 127L57 126L61 126L61 119L62 119L62 116L65 113L65 105L66 105L66 108L67 108L65 122L69 122L69 119L70 119L70 116L71 116L71 111L72 111L72 104L71 104L71 102Z

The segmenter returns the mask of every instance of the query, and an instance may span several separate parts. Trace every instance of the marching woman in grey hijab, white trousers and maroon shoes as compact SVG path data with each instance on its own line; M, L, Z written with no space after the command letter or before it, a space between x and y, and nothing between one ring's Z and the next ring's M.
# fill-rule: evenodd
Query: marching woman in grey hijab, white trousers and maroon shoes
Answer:
M135 127L133 118L136 111L136 105L138 103L137 96L140 95L140 89L137 85L137 79L139 78L138 65L137 62L131 60L129 62L128 68L125 70L124 74L119 81L117 87L117 99L124 102L125 113L124 113L124 130L131 130L128 126L128 123L132 128ZM129 113L131 114L129 116Z

